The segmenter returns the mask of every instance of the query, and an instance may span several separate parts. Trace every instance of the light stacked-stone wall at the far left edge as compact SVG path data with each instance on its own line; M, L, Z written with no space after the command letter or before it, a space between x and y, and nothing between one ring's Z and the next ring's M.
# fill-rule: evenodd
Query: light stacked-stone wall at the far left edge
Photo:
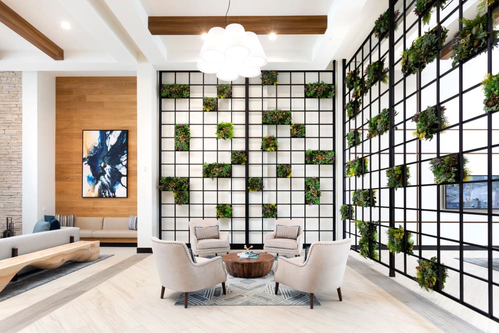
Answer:
M5 217L22 233L22 73L0 71L0 237Z

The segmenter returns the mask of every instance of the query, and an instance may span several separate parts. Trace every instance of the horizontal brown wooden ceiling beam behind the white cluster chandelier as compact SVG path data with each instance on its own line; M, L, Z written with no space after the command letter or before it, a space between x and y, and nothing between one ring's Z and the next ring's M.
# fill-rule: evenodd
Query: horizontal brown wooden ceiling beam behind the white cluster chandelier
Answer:
M240 23L256 34L323 34L327 15L301 16L230 16L228 23ZM149 16L149 31L159 35L192 35L224 27L225 16Z

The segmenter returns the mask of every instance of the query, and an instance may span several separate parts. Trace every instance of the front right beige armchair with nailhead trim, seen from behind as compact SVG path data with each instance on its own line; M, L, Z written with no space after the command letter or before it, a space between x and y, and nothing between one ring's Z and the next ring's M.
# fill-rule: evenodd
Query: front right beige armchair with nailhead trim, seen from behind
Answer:
M350 252L350 239L334 242L314 242L308 249L305 262L301 258L278 257L274 271L275 295L279 283L310 293L310 309L313 295L336 289L341 297L341 283Z

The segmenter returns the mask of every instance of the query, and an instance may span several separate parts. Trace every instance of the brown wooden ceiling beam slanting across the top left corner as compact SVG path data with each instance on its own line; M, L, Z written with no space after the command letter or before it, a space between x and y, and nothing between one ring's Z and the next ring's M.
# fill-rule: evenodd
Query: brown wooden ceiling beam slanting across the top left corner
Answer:
M0 0L0 22L54 60L64 60L64 50Z

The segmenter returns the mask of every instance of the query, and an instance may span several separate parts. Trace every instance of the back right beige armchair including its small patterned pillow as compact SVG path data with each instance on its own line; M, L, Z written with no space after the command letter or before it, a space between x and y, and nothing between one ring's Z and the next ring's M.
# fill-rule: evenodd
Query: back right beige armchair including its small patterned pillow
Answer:
M297 232L296 226L299 226ZM275 220L273 233L263 241L263 252L299 256L303 249L303 226L302 220Z

